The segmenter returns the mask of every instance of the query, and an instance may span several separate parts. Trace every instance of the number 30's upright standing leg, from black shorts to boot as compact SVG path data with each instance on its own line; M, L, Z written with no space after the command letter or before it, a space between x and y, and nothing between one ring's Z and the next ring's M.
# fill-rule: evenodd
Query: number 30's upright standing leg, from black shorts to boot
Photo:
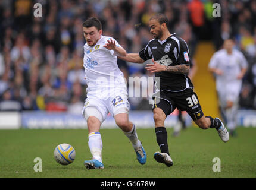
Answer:
M153 113L155 121L155 135L157 137L157 143L160 147L161 153L156 152L154 159L157 162L164 163L166 166L173 166L173 160L170 157L168 142L167 142L167 131L164 127L164 121L166 116L169 115L175 109L174 104L171 100L162 99L160 97L154 98ZM158 102L158 103L156 103Z

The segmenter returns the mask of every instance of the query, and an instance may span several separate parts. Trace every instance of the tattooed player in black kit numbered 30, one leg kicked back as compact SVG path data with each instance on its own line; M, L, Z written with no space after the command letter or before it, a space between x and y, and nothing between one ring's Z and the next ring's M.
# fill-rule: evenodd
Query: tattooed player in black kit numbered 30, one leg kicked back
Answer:
M176 107L185 110L199 128L215 128L224 142L229 140L229 133L219 118L204 116L202 113L198 97L193 91L193 84L188 77L191 65L188 46L183 39L170 33L167 23L166 15L153 15L149 19L149 27L154 39L139 53L127 53L126 56L118 58L139 64L152 59L153 64L147 64L146 70L155 73L153 113L155 135L161 150L161 153L154 153L154 159L170 167L173 166L173 160L170 157L164 121Z

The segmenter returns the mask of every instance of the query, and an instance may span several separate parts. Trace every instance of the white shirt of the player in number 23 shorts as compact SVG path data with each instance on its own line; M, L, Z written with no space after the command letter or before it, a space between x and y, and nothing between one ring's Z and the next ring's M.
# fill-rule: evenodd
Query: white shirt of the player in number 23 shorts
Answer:
M115 39L108 36L101 36L95 46L91 47L85 43L83 67L85 68L85 78L88 88L88 95L99 94L106 96L106 90L109 92L113 88L125 88L126 84L123 72L117 65L117 55L114 50L108 50L105 47L107 40L112 39L115 45L121 47Z

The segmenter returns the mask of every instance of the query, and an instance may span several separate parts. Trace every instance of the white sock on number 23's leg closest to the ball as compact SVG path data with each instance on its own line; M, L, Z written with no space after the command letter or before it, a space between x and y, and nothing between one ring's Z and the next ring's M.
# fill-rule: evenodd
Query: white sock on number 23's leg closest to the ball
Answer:
M88 146L90 153L92 153L93 159L99 160L102 163L101 151L102 151L102 140L99 132L91 132L88 135L89 141Z

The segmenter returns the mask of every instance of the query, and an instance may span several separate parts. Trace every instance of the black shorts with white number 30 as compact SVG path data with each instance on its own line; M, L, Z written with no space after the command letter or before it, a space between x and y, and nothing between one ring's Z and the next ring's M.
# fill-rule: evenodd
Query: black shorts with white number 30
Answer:
M176 108L186 111L193 120L200 119L204 115L198 97L191 88L180 92L161 90L160 93L155 94L153 100L153 110L159 107L166 116L170 115Z

